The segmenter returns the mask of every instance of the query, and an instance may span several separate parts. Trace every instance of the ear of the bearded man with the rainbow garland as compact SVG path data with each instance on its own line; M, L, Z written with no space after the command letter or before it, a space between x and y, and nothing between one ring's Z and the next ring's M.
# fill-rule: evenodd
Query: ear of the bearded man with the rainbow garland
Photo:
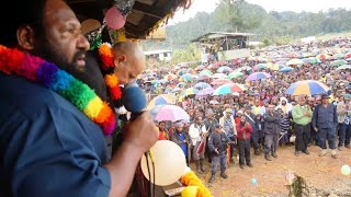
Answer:
M19 46L25 50L33 50L35 44L35 34L31 26L21 26L18 30Z

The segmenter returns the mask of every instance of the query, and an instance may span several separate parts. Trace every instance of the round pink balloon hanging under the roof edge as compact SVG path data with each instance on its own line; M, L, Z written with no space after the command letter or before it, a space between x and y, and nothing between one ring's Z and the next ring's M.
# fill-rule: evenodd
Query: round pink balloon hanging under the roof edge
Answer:
M111 7L105 14L106 24L112 30L120 30L125 24L125 16L123 16L117 7Z

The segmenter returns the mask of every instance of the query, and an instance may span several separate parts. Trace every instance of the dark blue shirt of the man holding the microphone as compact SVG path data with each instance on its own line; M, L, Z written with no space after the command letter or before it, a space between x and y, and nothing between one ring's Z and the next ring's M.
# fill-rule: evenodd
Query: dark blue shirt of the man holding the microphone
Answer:
M0 72L0 196L107 196L101 129L55 92Z

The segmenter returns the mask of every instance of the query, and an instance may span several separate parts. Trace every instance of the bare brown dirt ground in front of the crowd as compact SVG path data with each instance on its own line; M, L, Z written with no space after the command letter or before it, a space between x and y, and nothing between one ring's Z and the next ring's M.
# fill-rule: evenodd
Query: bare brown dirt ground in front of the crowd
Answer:
M211 175L211 164L206 162L206 173L199 177L208 186L215 197L286 197L288 189L285 174L288 171L305 178L309 187L308 196L343 196L351 197L351 175L341 174L341 166L351 165L351 150L338 151L338 159L332 159L330 151L325 157L318 157L320 149L316 146L308 148L310 154L294 155L294 146L279 147L278 158L265 161L263 154L254 155L251 149L253 167L241 170L238 162L227 169L227 179L216 174L216 179L207 184ZM191 167L194 164L191 163ZM251 179L257 179L257 185Z

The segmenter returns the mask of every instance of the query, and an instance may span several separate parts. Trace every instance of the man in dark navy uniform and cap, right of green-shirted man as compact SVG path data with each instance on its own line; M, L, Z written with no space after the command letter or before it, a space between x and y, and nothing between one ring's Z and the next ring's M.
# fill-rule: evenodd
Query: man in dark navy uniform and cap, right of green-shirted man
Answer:
M321 95L321 104L317 105L314 111L312 124L318 135L319 147L321 151L319 157L327 153L326 140L331 149L331 157L337 159L336 136L338 126L337 107L329 103L327 94Z

